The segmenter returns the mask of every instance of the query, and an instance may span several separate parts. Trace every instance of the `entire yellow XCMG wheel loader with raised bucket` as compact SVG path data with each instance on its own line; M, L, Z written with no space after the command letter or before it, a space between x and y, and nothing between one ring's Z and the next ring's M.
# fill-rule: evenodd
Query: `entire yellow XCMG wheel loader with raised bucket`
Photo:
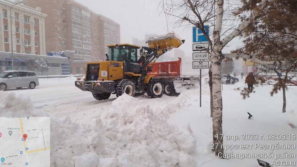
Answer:
M132 44L108 45L106 61L87 63L85 78L77 79L75 86L91 92L97 100L108 99L111 93L117 97L124 93L129 96L147 93L151 98L161 97L164 84L148 74L152 70L149 64L154 64L168 50L179 47L184 40L172 33L152 37L146 42L149 47L141 49Z

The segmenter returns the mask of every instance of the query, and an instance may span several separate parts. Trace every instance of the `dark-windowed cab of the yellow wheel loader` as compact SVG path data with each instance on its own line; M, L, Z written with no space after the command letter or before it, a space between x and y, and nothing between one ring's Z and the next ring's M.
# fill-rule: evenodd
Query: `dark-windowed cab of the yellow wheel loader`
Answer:
M107 45L108 55L111 61L137 62L137 50L139 46L131 44Z

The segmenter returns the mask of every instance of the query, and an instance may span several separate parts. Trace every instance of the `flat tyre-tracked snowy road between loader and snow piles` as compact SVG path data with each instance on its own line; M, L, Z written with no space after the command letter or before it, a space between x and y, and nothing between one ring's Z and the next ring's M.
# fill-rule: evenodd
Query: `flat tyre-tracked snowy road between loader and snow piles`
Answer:
M31 98L37 109L44 110L57 117L71 114L83 114L90 111L102 111L111 105L116 95L111 94L108 100L98 101L90 92L82 91L75 87L76 78L50 78L39 79L40 86L33 90L23 88L21 90L10 89L8 92L23 94ZM160 99L150 99L148 96L139 96L141 104L154 104L151 107L162 106L176 97L166 96Z

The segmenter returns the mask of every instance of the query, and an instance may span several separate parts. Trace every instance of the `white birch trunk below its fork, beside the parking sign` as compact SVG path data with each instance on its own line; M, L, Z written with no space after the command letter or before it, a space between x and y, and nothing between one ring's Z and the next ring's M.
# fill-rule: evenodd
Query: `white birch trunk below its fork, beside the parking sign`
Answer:
M212 92L213 92L213 117L212 117L212 135L215 155L224 153L222 133L222 78L221 78L221 60L220 55L212 53L211 56L212 71Z

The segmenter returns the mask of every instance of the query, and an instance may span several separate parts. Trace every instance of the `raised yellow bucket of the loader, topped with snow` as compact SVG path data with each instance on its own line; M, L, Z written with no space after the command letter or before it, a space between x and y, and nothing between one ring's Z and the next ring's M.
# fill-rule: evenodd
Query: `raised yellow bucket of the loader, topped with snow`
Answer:
M185 40L178 39L174 33L151 37L146 41L146 43L149 44L149 47L153 47L156 50L171 50L181 46L184 42Z

